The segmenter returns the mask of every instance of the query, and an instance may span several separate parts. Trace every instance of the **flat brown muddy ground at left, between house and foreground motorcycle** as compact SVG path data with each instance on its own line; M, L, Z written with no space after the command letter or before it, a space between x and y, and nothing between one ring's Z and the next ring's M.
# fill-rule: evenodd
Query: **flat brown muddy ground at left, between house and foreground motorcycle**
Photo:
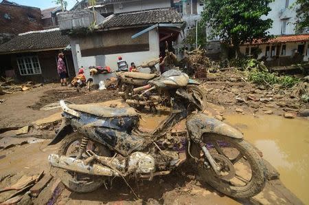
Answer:
M0 129L4 127L23 127L35 120L55 114L60 109L41 111L45 105L58 103L65 99L77 104L104 102L118 98L115 90L76 91L71 87L60 87L59 84L47 84L43 87L30 89L15 94L0 96L4 102L0 105Z

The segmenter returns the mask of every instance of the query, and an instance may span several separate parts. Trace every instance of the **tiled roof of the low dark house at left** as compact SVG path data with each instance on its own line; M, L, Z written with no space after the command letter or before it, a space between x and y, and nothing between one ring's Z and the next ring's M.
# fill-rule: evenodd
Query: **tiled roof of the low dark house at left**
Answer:
M0 45L1 53L16 53L36 50L57 50L69 45L69 37L60 30L42 30L19 34L14 39Z

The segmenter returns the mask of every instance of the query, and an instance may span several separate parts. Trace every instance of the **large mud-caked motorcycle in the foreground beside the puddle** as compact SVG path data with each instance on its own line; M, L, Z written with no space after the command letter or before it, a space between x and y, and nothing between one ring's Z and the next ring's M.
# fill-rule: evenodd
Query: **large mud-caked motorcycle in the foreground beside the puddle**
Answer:
M150 82L168 91L172 106L170 115L149 133L139 129L139 114L132 107L61 100L62 125L49 143L60 143L58 153L48 158L52 173L71 191L85 193L113 177L152 180L168 175L188 160L187 166L221 193L258 194L266 182L260 155L240 131L201 112L203 102L179 86L186 79L173 72ZM172 127L183 119L187 131L173 133Z

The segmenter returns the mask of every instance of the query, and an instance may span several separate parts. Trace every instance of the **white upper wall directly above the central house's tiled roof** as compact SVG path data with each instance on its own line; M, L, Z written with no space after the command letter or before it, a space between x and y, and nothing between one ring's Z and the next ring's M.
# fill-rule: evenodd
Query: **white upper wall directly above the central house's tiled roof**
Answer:
M155 8L168 8L170 7L170 0L139 0L139 1L128 1L124 3L115 3L114 12L133 12L141 10L149 10Z

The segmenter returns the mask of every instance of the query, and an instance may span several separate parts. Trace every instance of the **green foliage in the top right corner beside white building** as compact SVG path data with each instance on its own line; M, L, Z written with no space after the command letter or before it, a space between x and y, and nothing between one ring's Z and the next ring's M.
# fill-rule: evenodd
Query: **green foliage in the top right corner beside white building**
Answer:
M293 7L296 8L297 21L295 22L295 31L304 32L304 29L309 28L309 1L297 0Z

